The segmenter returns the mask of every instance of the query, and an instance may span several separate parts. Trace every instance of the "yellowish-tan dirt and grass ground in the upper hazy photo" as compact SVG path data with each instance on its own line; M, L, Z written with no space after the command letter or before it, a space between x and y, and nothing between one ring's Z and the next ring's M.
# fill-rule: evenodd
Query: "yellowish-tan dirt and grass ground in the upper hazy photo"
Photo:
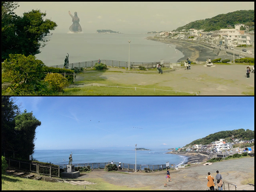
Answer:
M254 73L246 78L246 65L216 65L204 67L203 64L192 65L191 70L184 68L174 72L158 74L116 73L126 71L122 68L109 68L100 77L111 83L138 84L170 87L184 92L200 92L200 95L244 95L242 92L254 93ZM169 68L163 68L168 70ZM76 81L83 77L76 77Z

